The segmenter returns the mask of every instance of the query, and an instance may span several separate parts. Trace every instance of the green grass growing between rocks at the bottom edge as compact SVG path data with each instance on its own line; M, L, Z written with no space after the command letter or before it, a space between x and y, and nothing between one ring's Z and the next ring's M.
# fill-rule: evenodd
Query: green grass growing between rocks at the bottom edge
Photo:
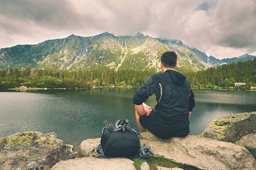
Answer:
M134 166L136 169L140 170L140 165L143 163L139 159L134 159ZM151 170L156 170L156 166L162 166L167 168L174 168L178 167L184 170L197 170L198 168L187 166L184 164L173 162L169 159L164 158L164 156L154 156L152 159L150 159L148 162L148 166Z

